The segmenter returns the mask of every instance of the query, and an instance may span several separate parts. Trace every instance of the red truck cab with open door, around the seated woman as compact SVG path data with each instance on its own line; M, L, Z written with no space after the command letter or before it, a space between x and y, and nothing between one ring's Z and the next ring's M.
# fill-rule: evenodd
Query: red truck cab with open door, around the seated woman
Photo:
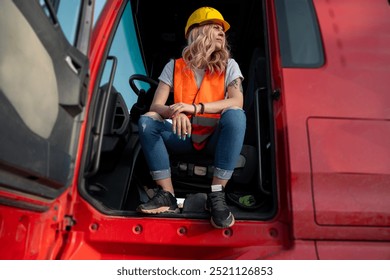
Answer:
M390 259L388 1L75 2L0 4L0 259ZM205 157L172 157L180 213L135 211L137 120L205 5L245 77L229 229Z

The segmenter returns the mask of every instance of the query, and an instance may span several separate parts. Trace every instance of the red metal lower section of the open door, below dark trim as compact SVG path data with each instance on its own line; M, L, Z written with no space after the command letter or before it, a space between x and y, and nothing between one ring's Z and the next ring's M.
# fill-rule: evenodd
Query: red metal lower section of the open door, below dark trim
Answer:
M4 197L4 193L1 194ZM43 212L0 205L0 259L55 259L62 246L61 230L67 205L67 193L58 200L8 194L19 206L45 205ZM25 203L21 203L24 201Z

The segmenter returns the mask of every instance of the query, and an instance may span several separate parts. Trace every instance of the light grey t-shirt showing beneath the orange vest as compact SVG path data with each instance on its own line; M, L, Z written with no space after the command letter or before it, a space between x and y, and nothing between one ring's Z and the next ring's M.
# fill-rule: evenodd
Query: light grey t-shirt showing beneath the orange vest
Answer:
M160 81L169 85L171 88L173 87L173 68L174 68L174 60L171 59L165 65L163 71L161 72L160 77L158 77ZM195 70L195 79L198 88L202 83L203 77L204 77L203 69ZM242 80L244 79L244 77L241 74L241 70L240 67L238 66L238 63L233 58L229 58L228 66L225 74L225 88L227 88L228 85L237 78L241 78Z

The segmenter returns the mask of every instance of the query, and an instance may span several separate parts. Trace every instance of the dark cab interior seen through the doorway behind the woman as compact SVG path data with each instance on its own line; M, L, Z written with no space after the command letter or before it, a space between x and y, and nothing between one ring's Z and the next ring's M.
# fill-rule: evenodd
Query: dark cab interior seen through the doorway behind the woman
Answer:
M245 77L244 109L247 130L240 162L226 189L228 203L236 217L243 220L267 220L276 209L274 153L272 134L272 100L267 80L268 61L264 11L262 1L131 1L133 23L145 66L146 76L157 81L164 65L181 56L185 45L184 27L189 15L201 6L219 10L230 23L227 40L232 57L240 65ZM153 7L153 8L151 8ZM131 54L130 54L131 55ZM128 72L128 76L142 73ZM114 78L115 79L115 78ZM151 99L126 104L124 95L135 94L129 85L127 92L104 84L94 97L88 154L85 159L86 176L81 193L96 208L111 215L140 216L135 209L146 202L156 186L138 140L137 120L142 113L137 107L147 108ZM155 89L151 85L147 96ZM110 91L107 101L104 92ZM107 103L104 113L103 104ZM139 104L138 104L139 105ZM143 106L143 110L145 110ZM99 147L99 125L104 133ZM118 127L120 129L118 129ZM96 158L99 165L93 172ZM160 216L204 218L204 199L212 178L212 158L205 155L172 156L172 180L176 197L185 199L180 214ZM238 203L237 203L238 202Z

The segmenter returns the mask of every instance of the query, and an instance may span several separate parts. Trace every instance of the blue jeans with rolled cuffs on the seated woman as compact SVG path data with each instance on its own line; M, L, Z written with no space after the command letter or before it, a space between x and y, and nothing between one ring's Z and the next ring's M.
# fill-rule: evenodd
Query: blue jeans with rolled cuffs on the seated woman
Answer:
M172 132L167 120L141 116L138 121L139 137L146 162L153 180L171 177L170 154L194 154L199 151L192 146L189 137L182 140ZM242 109L226 109L218 127L210 136L205 149L214 155L214 176L229 180L233 174L244 141L246 116Z

